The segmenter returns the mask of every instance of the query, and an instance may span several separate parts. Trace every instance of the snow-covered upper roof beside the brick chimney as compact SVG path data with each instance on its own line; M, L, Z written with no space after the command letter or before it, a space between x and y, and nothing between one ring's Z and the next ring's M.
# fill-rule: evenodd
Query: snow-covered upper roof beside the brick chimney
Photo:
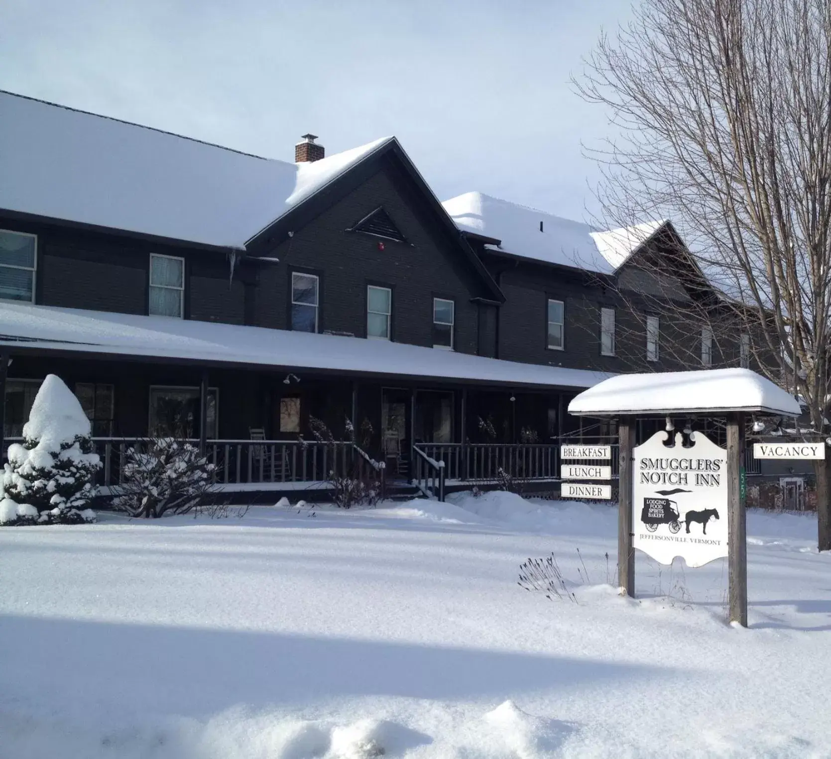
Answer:
M0 208L243 247L391 140L290 164L0 91Z

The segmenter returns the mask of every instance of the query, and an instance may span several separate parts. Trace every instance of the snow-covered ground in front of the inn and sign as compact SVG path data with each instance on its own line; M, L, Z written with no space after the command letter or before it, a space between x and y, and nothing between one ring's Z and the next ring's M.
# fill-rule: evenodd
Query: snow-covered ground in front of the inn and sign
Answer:
M606 505L314 514L0 530L0 756L831 756L812 517L750 514L745 630L724 561L618 597ZM517 584L551 551L577 603Z

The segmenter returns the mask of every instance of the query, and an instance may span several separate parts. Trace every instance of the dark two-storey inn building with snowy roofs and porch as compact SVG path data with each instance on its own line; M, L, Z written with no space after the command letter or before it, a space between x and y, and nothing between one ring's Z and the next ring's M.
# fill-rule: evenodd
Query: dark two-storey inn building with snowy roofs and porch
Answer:
M499 466L551 482L561 438L616 439L565 414L581 389L749 360L742 335L716 357L666 316L702 297L673 281L669 222L440 203L394 137L327 157L304 135L295 159L0 93L4 437L51 372L91 419L105 484L131 440L181 434L229 489L314 487L332 463L312 417L342 456L425 492L440 462L460 486ZM681 343L688 361L667 350ZM364 420L356 452L346 427Z

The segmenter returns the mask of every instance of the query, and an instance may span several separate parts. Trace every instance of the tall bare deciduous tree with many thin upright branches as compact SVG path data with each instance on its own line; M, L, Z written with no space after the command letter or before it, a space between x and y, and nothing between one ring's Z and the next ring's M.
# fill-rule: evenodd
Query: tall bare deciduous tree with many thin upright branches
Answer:
M617 226L670 218L721 293L755 365L829 433L831 3L644 0L576 82L619 129L604 164ZM731 337L735 341L735 332ZM819 549L831 550L831 461L816 466Z

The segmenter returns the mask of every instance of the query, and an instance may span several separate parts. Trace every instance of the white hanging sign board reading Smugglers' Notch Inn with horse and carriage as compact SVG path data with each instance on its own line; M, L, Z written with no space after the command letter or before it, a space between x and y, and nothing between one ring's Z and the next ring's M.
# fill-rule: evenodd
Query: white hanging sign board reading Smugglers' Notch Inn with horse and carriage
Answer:
M727 452L701 432L690 448L681 433L672 447L666 437L632 451L632 545L661 564L703 566L727 556Z

